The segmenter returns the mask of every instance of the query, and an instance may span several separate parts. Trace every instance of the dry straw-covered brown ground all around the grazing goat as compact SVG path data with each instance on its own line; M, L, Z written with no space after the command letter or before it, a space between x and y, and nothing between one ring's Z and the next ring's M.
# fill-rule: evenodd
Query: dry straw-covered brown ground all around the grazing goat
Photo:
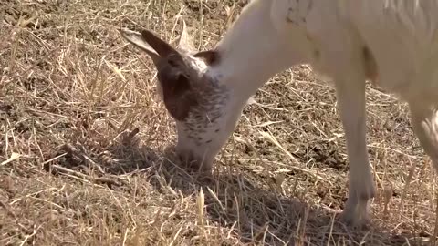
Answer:
M151 60L183 15L204 50L244 1L0 0L1 245L420 245L435 179L394 97L368 88L379 189L369 230L335 218L349 165L334 91L309 67L273 77L205 181L173 161ZM135 134L138 128L140 131ZM299 161L294 161L289 154Z

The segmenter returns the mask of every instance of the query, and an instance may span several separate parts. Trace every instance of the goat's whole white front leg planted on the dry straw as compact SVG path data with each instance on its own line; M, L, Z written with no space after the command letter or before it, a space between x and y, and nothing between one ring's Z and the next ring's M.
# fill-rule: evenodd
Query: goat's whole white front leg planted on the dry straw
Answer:
M365 80L360 76L337 79L336 91L350 163L349 199L341 220L362 226L368 222L375 194L366 144Z

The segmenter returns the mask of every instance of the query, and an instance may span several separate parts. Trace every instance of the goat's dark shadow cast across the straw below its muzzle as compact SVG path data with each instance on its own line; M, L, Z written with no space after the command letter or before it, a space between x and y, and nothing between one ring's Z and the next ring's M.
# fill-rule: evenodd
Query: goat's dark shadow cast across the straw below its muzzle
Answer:
M202 189L208 219L229 228L244 243L318 245L324 241L325 245L339 245L350 241L351 245L402 245L408 238L408 233L394 234L373 224L369 230L353 231L342 225L334 212L287 197L275 188L261 187L246 174L220 168L211 177L200 176L179 166L173 147L157 153L141 145L136 132L122 134L99 154L80 145L65 145L57 153L62 156L58 165L47 166L47 170L54 174L67 170L82 178L97 176L93 180L110 189L128 185L120 181L122 177L144 173L156 190L168 186L192 196Z

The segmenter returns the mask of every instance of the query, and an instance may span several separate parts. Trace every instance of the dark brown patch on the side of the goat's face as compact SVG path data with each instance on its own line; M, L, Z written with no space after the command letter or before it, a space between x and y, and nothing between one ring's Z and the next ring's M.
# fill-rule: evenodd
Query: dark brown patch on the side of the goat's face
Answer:
M176 120L187 118L193 106L197 104L196 96L189 77L183 74L160 74L164 105Z

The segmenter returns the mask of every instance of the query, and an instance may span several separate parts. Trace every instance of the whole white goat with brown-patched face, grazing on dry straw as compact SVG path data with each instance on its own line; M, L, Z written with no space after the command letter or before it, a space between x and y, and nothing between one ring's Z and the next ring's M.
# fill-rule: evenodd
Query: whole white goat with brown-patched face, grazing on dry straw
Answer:
M146 30L121 33L158 69L162 99L176 120L178 153L206 170L247 99L270 77L301 63L332 77L350 162L341 218L362 225L375 193L366 145L367 79L408 102L415 134L438 169L436 13L438 0L253 0L213 50L196 54Z

